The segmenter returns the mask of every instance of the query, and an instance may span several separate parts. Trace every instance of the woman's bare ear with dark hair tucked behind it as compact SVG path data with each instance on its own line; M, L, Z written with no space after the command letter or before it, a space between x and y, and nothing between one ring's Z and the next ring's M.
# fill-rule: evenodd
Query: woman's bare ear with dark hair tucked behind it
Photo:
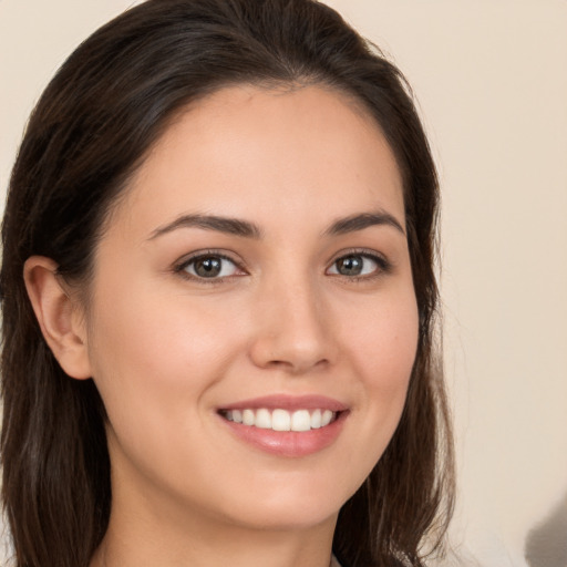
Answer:
M44 256L31 256L23 267L25 289L41 332L61 368L72 378L91 378L82 309L64 289L58 265Z

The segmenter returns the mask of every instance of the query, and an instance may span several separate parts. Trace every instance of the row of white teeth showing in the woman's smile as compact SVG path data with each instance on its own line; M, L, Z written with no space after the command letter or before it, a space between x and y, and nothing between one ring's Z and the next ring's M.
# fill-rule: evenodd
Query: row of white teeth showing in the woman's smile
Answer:
M331 410L230 410L224 413L228 421L254 425L255 427L274 431L310 431L324 427L336 420L337 413Z

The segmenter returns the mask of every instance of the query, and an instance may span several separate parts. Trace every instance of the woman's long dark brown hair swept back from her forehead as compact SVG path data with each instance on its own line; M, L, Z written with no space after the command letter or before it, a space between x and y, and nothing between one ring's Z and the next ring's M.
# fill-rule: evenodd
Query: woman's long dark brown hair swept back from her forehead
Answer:
M63 64L32 113L2 225L2 496L17 567L86 567L111 508L105 411L44 342L23 262L52 258L87 282L104 220L167 124L234 83L319 83L373 116L404 185L420 339L405 409L374 470L342 507L346 565L424 565L452 508L447 404L436 358L437 179L409 86L380 51L312 0L150 0ZM437 353L439 354L439 353Z

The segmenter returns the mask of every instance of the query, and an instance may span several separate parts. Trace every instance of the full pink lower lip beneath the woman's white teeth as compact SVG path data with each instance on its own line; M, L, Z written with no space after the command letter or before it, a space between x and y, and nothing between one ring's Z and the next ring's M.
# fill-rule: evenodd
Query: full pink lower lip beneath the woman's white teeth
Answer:
M230 431L246 443L265 453L278 456L300 457L318 453L331 445L344 424L349 412L340 412L329 425L310 431L274 431L235 423L219 416Z

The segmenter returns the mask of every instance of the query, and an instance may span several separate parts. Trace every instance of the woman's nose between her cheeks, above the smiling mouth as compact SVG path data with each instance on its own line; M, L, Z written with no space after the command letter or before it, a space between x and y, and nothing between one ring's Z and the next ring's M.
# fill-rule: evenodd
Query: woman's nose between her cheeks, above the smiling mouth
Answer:
M308 282L266 286L255 319L250 358L257 367L302 374L332 362L337 349L329 313Z

